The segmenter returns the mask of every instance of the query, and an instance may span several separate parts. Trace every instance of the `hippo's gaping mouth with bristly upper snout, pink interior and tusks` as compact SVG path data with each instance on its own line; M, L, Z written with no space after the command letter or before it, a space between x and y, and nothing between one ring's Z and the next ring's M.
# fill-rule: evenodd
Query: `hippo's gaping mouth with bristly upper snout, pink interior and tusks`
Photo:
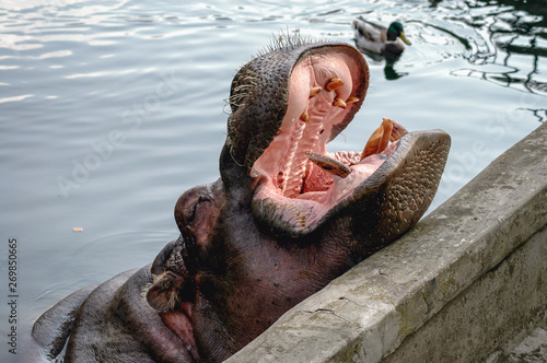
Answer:
M232 84L229 119L234 160L244 159L241 164L258 180L253 214L293 237L315 231L362 198L380 178L387 180L397 168L401 173L398 163L382 166L392 156L411 159L409 149L429 148L434 138L443 139L443 148L450 142L442 131L433 131L433 137L431 131L405 137L403 126L384 119L363 151L328 153L327 143L346 128L363 102L368 66L347 45L300 48L274 50L242 68ZM282 51L286 62L276 55ZM270 72L265 72L266 63ZM253 134L245 133L249 122L254 124ZM403 137L407 140L399 150ZM379 176L371 179L379 169Z

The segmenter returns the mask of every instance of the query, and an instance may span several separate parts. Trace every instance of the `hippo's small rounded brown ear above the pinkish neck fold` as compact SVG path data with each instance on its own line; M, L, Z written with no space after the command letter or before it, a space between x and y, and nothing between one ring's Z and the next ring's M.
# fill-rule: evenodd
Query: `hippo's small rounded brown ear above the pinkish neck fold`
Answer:
M153 276L153 283L147 291L147 301L160 313L173 312L181 304L179 293L183 286L184 280L173 273Z

